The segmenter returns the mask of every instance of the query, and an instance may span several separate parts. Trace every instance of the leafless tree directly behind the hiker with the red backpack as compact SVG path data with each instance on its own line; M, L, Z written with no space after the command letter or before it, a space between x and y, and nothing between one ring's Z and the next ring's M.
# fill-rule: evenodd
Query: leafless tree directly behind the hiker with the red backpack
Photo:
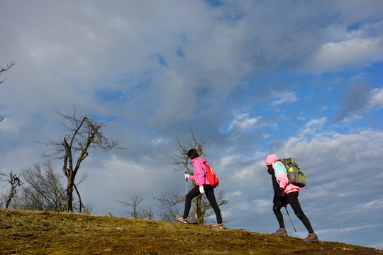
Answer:
M191 140L186 138L180 139L177 137L177 140L174 140L174 156L172 157L172 164L174 165L174 171L184 171L187 174L193 174L193 167L188 160L187 152L189 149L196 149L201 157L206 157L204 154L204 142L205 140L195 137L193 130L190 128ZM192 181L191 188L194 188L196 183ZM162 209L161 217L162 220L174 221L174 217L179 216L179 211L182 208L177 207L179 203L185 200L184 195L180 195L175 191L162 193L160 197L154 197L160 202L160 209ZM219 205L225 205L228 203L226 198L226 192L219 191L216 195L216 200ZM204 224L206 222L206 217L209 217L211 212L211 205L209 200L206 199L206 196L196 196L193 199L194 213L189 219L194 220L197 224ZM194 217L194 219L193 219Z

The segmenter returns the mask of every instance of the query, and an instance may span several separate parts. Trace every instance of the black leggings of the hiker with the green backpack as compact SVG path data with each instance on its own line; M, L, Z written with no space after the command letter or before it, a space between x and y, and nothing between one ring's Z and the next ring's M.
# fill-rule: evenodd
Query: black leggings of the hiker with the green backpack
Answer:
M313 228L311 227L311 223L309 219L306 217L306 215L304 215L304 212L301 209L301 205L299 204L298 195L299 195L298 191L287 193L286 195L284 195L283 200L279 200L277 196L274 196L274 201L273 201L274 205L272 206L272 210L274 211L274 214L277 217L279 227L284 228L284 221L283 221L281 208L284 205L290 204L292 206L292 209L295 212L296 217L298 217L299 220L301 220L301 222L304 224L304 227L306 227L307 231L309 231L309 233L313 233Z

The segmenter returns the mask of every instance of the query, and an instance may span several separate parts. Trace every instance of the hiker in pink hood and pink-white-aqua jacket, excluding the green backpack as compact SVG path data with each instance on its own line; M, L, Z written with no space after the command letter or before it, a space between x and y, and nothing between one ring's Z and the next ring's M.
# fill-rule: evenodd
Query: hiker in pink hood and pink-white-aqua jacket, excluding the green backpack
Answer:
M269 155L266 158L267 172L272 176L272 187L274 188L274 199L272 201L272 210L279 223L279 229L274 232L274 235L287 236L286 228L284 227L283 215L281 208L290 204L295 212L296 217L301 220L309 232L309 236L304 240L308 242L318 242L318 237L313 232L309 219L301 209L298 200L299 191L301 188L289 183L287 178L287 169L284 164L279 161L277 156Z

